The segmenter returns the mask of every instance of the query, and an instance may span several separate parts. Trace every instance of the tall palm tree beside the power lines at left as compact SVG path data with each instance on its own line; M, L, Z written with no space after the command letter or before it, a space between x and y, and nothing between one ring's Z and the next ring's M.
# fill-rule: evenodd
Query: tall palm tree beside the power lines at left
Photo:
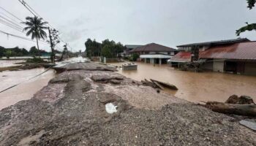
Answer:
M22 23L26 25L26 27L23 28L23 31L26 31L26 36L31 35L31 39L34 39L34 38L37 39L37 49L39 53L38 40L47 38L47 34L44 31L44 29L48 28L45 26L47 22L43 22L42 18L38 18L37 16L34 16L34 18L26 17L26 22L22 22Z

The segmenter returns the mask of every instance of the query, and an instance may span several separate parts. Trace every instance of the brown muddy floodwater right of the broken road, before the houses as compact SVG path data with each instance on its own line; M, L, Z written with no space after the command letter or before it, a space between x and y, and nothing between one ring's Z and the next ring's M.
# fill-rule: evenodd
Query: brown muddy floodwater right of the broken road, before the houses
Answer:
M111 64L121 66L121 64ZM256 101L256 77L217 72L183 72L168 65L137 63L137 71L118 72L133 80L154 79L169 82L178 87L178 91L168 93L188 101L225 101L233 94L251 96Z

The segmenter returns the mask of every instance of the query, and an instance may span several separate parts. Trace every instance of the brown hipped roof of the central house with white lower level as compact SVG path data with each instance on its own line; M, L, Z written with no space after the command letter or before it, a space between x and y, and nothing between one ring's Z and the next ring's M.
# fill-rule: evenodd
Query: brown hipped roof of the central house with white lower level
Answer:
M136 47L135 49L131 50L130 52L136 53L136 52L174 52L176 49L173 49L171 47L166 47L163 45L158 45L155 43L151 43L148 45L144 45L141 47Z

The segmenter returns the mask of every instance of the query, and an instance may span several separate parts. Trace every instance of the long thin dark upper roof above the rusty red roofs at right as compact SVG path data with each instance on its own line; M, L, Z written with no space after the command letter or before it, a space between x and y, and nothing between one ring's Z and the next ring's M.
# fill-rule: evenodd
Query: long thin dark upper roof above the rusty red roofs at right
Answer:
M212 42L198 42L187 45L178 45L177 47L192 47L192 46L202 46L202 45L226 45L226 44L234 44L238 42L250 42L247 38L238 38L238 39L226 39L221 41L212 41Z

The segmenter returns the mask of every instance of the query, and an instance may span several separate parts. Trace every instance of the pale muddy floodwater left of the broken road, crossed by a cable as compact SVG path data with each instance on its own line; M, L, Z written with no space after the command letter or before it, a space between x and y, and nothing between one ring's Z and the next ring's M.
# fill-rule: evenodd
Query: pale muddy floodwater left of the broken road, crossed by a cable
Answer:
M37 93L37 91L47 85L48 81L55 76L54 70L50 69L47 72L45 71L46 69L39 68L23 71L0 72L0 92L13 85L17 85L0 93L0 110L17 103L18 101L31 99L34 93ZM42 72L45 73L42 74Z

